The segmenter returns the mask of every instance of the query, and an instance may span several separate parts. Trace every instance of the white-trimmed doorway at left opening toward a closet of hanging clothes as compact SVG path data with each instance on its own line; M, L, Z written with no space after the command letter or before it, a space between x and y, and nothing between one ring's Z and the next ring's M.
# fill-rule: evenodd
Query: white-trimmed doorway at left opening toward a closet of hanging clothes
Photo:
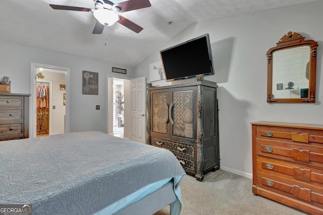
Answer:
M30 137L69 132L68 70L31 63Z

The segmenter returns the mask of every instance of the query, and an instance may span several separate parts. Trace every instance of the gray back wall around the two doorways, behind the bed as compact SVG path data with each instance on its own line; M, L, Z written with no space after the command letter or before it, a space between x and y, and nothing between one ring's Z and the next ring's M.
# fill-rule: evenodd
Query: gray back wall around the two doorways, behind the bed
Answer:
M40 50L0 39L0 78L9 76L12 93L30 93L30 63L70 68L70 131L106 132L106 76L131 77L133 68L96 59ZM112 66L127 75L112 73ZM82 70L99 73L98 95L82 94ZM100 105L100 110L95 110Z

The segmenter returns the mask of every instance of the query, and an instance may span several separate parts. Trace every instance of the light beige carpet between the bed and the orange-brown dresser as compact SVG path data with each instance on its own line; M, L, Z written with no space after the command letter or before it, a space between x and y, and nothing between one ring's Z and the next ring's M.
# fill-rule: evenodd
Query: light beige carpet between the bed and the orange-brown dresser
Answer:
M202 182L186 175L181 184L181 192L183 200L181 215L307 214L254 195L251 179L223 170L207 173ZM170 206L154 215L170 215Z

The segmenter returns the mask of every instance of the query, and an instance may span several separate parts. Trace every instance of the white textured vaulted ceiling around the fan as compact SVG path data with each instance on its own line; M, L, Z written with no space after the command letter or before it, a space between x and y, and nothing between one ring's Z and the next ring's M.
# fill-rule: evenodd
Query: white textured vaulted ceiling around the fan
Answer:
M102 34L92 34L96 23L92 13L49 7L53 4L94 9L92 0L1 0L0 38L133 67L192 23L311 1L150 0L149 8L121 14L141 26L140 33L116 23Z

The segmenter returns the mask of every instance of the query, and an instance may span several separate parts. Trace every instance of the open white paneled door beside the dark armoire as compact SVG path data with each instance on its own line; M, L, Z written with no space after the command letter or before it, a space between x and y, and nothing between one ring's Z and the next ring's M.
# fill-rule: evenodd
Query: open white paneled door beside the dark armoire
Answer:
M130 80L130 139L146 142L146 77Z

